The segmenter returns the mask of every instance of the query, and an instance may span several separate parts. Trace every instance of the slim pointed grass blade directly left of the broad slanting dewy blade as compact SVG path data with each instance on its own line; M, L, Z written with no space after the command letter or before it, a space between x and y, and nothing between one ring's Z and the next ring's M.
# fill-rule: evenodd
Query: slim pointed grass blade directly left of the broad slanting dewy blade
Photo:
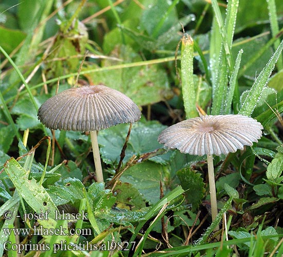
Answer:
M243 50L241 49L238 53L237 59L235 61L235 68L232 72L232 76L231 76L230 81L229 81L227 99L224 102L224 111L223 111L224 114L230 113L232 100L233 100L233 96L234 96L234 91L235 91L235 86L237 84L237 76L238 76L238 71L239 71L239 68L240 68L242 53L243 53Z

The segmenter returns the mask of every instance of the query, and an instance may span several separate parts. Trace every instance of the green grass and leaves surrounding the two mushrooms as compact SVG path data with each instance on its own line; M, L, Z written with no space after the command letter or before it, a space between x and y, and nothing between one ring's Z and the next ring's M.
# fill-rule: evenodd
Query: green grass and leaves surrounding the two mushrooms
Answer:
M0 255L20 247L45 257L282 255L283 3L226 4L1 2ZM142 111L122 153L128 124L98 133L105 184L95 182L87 133L52 132L37 118L78 75L79 85L105 84ZM214 156L213 223L205 158L157 142L199 112L240 113L264 127L253 148ZM87 218L55 219L62 209ZM48 232L32 235L34 226ZM7 234L13 228L22 231ZM31 248L40 244L42 252Z

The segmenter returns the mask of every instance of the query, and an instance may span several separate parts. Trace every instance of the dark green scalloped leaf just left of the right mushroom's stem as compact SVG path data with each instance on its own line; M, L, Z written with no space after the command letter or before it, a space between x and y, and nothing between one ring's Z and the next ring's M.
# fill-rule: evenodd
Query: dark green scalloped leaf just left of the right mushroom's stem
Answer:
M205 183L200 173L185 168L177 172L182 188L186 191L185 196L192 211L197 210L205 194Z

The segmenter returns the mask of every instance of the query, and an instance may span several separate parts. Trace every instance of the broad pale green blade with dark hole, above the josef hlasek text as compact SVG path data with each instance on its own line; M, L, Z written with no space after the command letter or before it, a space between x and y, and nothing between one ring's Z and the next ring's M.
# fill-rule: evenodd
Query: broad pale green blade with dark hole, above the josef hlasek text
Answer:
M35 179L28 179L28 171L14 159L11 158L5 164L5 171L9 175L19 195L21 195L28 205L37 213L50 211L49 216L55 217L57 210L54 201L51 199L45 188L38 185Z

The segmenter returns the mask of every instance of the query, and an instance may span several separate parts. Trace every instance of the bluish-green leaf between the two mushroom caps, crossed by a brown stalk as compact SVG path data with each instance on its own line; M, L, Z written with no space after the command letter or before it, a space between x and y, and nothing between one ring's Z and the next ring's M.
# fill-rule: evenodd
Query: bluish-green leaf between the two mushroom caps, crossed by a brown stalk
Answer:
M157 137L165 128L166 126L157 122L134 123L123 162L126 163L133 155L139 156L162 148L163 146L158 143ZM114 164L119 162L128 130L129 124L120 124L98 133L98 143L101 145L100 153L105 163ZM165 164L169 161L170 155L171 153L168 152L164 155L155 156L151 160Z

